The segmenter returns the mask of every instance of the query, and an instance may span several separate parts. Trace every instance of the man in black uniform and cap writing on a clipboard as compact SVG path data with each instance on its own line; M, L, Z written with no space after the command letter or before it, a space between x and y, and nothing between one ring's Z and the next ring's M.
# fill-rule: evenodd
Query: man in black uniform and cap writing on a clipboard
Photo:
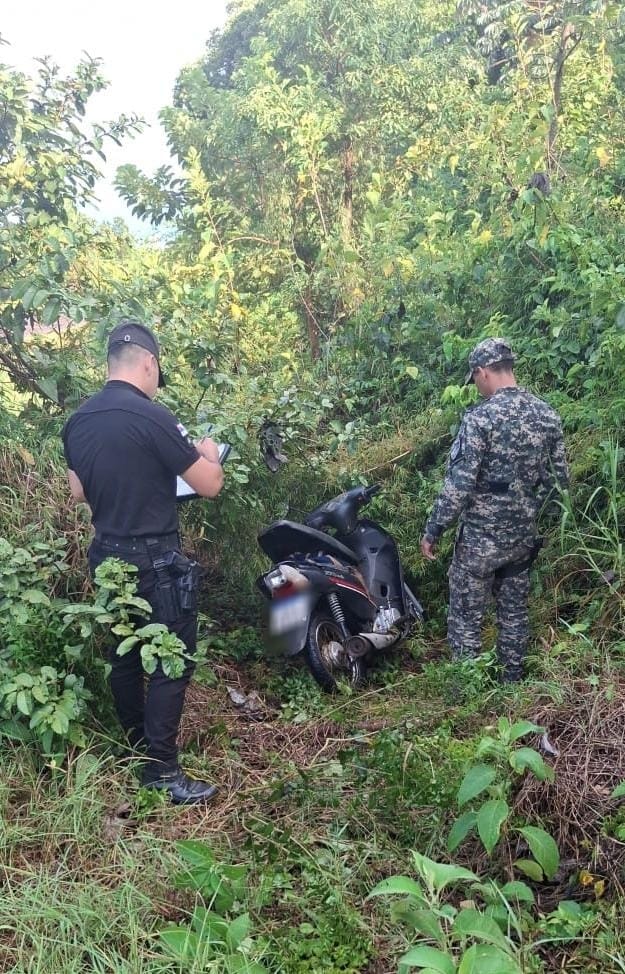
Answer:
M202 497L223 486L217 445L193 443L164 406L152 402L165 385L159 346L149 328L122 321L108 341L108 382L63 429L72 495L91 508L93 573L107 558L139 569L137 594L152 606L152 622L167 625L192 656L197 639L193 562L180 554L176 477ZM111 654L111 689L120 723L147 760L143 783L166 790L176 803L210 800L217 789L187 777L176 738L193 664L179 679L159 665L144 686L139 648Z

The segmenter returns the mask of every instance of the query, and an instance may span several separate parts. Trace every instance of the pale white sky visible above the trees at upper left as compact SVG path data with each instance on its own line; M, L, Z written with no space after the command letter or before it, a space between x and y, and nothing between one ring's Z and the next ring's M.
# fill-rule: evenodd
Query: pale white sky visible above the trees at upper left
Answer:
M0 62L32 75L34 58L49 54L69 71L83 51L103 60L109 87L89 102L88 118L107 121L136 112L150 123L122 148L105 147L105 178L97 187L99 215L121 216L132 229L136 221L115 190L117 166L135 163L151 173L169 160L158 112L171 104L176 77L197 60L211 31L223 26L226 0L2 0Z

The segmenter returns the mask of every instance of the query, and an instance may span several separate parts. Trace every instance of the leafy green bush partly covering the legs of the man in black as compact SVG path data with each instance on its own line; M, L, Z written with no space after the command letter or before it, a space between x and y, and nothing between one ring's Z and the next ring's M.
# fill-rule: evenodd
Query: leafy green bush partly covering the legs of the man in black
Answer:
M55 761L86 742L88 704L106 669L98 650L109 632L123 639L122 652L142 642L147 672L160 661L179 676L185 665L184 644L166 626L136 628L151 607L136 595L134 566L104 562L93 598L75 602L61 594L64 554L59 539L23 548L0 538L0 735L32 742Z

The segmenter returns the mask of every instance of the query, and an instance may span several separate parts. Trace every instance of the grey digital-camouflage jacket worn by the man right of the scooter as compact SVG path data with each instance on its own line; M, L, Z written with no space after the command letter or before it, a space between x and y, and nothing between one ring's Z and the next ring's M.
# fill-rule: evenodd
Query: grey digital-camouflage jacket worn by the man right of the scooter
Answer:
M435 541L460 518L470 535L531 540L556 484L568 484L558 414L525 389L498 389L465 413L425 535Z

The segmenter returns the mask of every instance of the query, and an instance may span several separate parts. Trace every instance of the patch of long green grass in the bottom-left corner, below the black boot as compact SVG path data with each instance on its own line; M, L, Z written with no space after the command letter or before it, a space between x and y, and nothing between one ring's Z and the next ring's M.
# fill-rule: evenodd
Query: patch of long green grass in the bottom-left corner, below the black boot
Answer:
M128 772L86 751L63 771L3 749L0 970L15 974L174 970L155 930L175 910L171 843L115 812Z

